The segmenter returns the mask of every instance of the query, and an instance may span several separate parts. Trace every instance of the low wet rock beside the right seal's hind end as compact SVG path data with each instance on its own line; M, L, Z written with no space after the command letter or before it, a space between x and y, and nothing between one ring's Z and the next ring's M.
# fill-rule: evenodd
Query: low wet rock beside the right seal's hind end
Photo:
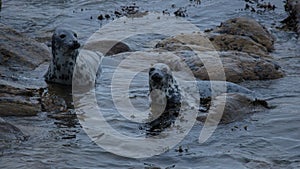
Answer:
M257 111L263 111L267 108L266 105L264 100L253 99L239 93L224 93L214 99L209 114L202 114L197 120L206 122L207 125L215 125L220 119L221 124L228 124L242 120Z

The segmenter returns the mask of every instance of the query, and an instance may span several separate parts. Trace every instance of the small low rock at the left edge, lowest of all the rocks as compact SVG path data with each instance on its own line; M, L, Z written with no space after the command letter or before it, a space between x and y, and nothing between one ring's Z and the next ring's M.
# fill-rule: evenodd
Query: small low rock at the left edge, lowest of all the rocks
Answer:
M25 136L19 128L6 122L0 117L0 149L3 148L2 146L4 146L2 143L11 142L14 140L23 141L26 138L27 136Z

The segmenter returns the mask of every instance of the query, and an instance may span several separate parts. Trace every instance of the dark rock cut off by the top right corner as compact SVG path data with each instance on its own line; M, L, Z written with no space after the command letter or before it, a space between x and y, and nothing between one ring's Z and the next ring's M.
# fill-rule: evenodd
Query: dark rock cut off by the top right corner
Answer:
M289 13L289 16L282 22L286 24L289 30L300 34L300 1L287 0L285 10Z

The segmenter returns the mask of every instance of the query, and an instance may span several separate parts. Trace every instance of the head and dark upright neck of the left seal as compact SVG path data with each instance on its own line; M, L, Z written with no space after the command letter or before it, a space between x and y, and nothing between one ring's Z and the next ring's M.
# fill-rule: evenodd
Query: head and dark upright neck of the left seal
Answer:
M47 82L72 85L72 76L80 43L71 30L56 29L52 36L52 60L45 74Z

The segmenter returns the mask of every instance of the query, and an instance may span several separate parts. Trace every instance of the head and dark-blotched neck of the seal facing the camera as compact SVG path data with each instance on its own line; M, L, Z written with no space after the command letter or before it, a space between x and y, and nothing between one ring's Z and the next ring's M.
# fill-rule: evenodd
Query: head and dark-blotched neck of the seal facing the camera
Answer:
M181 107L181 90L169 66L157 63L149 69L149 92L151 112L156 114L149 131L161 131L176 120Z

